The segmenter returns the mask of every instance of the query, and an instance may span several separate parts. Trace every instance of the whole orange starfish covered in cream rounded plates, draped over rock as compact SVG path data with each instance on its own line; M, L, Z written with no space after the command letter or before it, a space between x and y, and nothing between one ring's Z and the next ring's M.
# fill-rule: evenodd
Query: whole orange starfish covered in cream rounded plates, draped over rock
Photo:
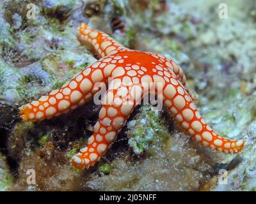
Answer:
M145 94L152 94L152 89L170 115L198 142L227 153L243 149L244 140L223 138L205 123L193 103L195 97L189 91L182 69L172 59L126 48L108 34L86 24L79 25L78 38L93 47L99 61L86 67L60 89L20 107L23 120L49 119L84 105L100 90L99 83L108 86L93 135L88 138L87 146L72 157L74 166L89 168L99 161L138 102Z

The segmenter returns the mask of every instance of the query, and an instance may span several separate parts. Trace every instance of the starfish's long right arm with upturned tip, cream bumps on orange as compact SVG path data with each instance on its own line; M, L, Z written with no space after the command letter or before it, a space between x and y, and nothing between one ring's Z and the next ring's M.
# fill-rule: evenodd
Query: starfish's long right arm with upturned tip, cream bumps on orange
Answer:
M227 153L236 153L243 149L244 140L223 138L204 122L188 92L177 79L172 78L171 82L164 87L163 95L164 105L174 119L198 142L202 142L206 147Z

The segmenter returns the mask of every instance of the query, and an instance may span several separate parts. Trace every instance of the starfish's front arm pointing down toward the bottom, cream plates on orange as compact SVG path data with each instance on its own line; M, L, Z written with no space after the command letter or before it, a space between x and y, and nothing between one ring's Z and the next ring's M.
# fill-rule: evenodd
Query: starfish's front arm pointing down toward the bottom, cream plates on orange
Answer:
M136 101L141 100L140 85L127 87L118 86L118 84L120 84L119 79L114 79L109 84L108 92L102 102L99 120L93 128L93 135L88 139L87 146L72 157L72 164L80 169L93 166L106 154L138 104Z

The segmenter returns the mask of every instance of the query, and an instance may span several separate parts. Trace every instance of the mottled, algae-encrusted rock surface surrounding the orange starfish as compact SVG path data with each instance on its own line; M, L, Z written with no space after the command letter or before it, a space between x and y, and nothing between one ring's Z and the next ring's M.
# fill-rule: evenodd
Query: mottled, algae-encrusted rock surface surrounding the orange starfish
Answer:
M0 150L6 157L0 156L1 190L256 189L253 0L33 1L35 19L26 17L28 3L3 1L0 7ZM218 17L220 3L228 6L227 19ZM124 20L124 33L113 32L115 18ZM179 62L205 120L223 136L247 140L244 151L227 155L204 149L164 111L141 106L95 167L74 170L70 157L91 135L100 107L89 103L29 123L20 122L17 107L60 87L95 61L90 48L76 39L81 22L127 47ZM26 182L31 168L36 185ZM227 171L226 184L218 183L220 170Z

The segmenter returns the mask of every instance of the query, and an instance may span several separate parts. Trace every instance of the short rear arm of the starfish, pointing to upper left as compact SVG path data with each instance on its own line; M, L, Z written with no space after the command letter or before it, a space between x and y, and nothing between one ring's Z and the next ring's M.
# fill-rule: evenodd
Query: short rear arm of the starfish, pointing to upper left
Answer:
M93 47L99 57L113 55L120 50L129 50L111 38L108 34L93 30L86 24L81 24L78 27L78 38L82 43Z

